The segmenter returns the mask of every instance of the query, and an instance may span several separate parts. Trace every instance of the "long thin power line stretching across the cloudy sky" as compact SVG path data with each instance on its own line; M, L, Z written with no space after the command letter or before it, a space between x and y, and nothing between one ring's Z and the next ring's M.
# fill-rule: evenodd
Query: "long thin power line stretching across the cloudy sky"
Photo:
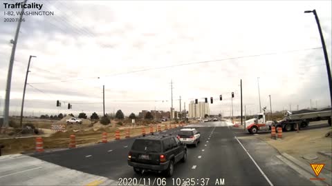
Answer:
M321 48L321 47L320 47ZM254 55L248 55L248 56L238 56L238 57L230 57L226 59L214 59L214 60L209 60L209 61L198 61L198 62L193 62L193 63L183 63L183 64L178 64L178 65L168 65L168 66L163 66L163 67L157 67L157 68L147 68L143 70L133 70L129 72L122 72L118 74L111 74L111 75L104 75L104 76L93 76L93 77L83 77L81 79L64 79L62 81L50 81L50 82L39 82L39 83L30 83L30 84L49 84L49 83L64 83L64 82L71 82L71 81L82 81L85 79L98 79L100 77L111 77L111 76L119 76L123 74L133 74L137 72L147 72L151 70L160 70L160 69L165 69L165 68L175 68L175 67L180 67L180 66L185 66L185 65L196 65L196 64L203 64L203 63L213 63L213 62L218 62L218 61L228 61L228 60L233 60L233 59L243 59L243 58L251 58L251 57L257 57L257 56L267 56L267 55L273 55L273 54L283 54L283 53L291 53L291 52L299 52L299 51L304 51L304 50L317 50L320 48L306 48L303 50L288 50L284 52L273 52L273 53L266 53L266 54L254 54Z

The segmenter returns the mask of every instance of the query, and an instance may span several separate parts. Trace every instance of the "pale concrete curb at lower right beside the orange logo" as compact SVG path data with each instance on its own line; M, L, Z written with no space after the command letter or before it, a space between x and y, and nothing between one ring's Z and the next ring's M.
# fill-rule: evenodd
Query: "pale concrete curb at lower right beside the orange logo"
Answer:
M313 174L313 170L311 169L310 166L308 166L305 163L297 160L296 158L294 158L293 156L287 154L286 152L282 153L282 156L284 156L284 158L286 158L288 161L291 161L291 163L294 163L295 165L297 165L298 167L300 167L304 171L308 172L311 176L313 176L313 178L316 177L315 174ZM327 185L331 185L331 183L329 183L329 180L330 181L332 180L332 176L330 174L326 174L325 172L326 171L324 171L324 169L323 169L322 172L320 173L320 176L325 178L325 180L322 180L322 182L326 183Z

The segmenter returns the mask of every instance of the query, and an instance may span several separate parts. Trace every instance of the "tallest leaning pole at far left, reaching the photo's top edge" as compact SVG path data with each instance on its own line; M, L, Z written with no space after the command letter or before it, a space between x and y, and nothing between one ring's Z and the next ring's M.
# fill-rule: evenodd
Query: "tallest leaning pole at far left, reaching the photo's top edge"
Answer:
M24 0L22 10L21 10L21 14L19 16L19 20L21 20L22 17L23 17L24 6L26 5L26 1L28 1L28 0ZM16 50L17 40L19 39L19 28L20 27L21 27L21 21L18 21L14 41L13 40L10 41L10 43L12 43L12 54L10 54L8 76L7 76L5 107L4 107L4 111L3 111L4 112L3 113L3 127L8 127L10 84L11 84L11 81L12 81L12 66L14 65L15 50Z

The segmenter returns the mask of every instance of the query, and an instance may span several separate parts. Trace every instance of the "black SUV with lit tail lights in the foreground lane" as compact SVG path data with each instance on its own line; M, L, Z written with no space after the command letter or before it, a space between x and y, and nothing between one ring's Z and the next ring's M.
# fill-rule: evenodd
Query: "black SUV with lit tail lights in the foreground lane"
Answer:
M149 170L172 176L174 165L186 159L187 147L176 136L151 134L135 139L128 154L128 165L138 174Z

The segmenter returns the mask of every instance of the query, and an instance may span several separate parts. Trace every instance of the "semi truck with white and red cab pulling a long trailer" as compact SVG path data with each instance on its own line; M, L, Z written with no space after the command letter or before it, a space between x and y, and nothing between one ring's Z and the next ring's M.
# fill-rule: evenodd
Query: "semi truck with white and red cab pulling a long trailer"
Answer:
M259 131L268 132L272 126L277 130L282 127L285 132L291 130L298 130L301 127L308 127L312 121L327 120L331 126L331 107L322 110L299 110L299 111L286 111L282 121L266 121L265 110L262 113L256 114L254 118L246 121L246 129L250 134L255 134Z

